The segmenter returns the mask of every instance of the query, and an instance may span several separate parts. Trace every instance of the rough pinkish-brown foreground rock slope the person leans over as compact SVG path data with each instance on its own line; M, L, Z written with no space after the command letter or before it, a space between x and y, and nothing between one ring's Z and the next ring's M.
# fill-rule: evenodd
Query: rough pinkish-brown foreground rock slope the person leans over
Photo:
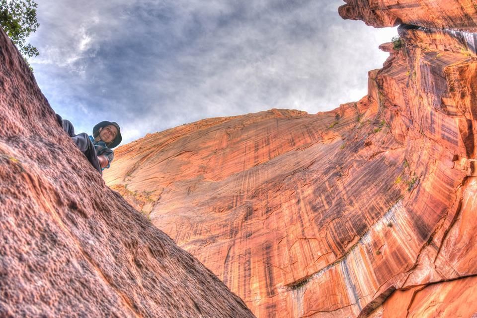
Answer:
M0 123L0 317L253 317L105 186L1 30Z

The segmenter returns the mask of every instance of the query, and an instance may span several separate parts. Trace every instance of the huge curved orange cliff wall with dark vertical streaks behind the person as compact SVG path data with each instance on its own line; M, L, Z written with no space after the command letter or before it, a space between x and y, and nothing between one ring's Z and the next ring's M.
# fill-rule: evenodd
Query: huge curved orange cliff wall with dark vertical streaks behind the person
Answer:
M401 25L357 103L211 118L124 145L107 184L257 317L473 317L477 56L457 28Z

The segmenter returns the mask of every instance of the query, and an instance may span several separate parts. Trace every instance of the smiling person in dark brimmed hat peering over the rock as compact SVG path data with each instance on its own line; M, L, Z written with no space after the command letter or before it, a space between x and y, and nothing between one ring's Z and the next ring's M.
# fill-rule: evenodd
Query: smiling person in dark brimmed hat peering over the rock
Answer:
M110 167L114 159L112 148L122 140L121 129L116 122L101 121L93 127L93 135L85 132L75 134L71 121L56 114L60 127L70 135L79 150L86 156L91 165L103 175L103 170Z

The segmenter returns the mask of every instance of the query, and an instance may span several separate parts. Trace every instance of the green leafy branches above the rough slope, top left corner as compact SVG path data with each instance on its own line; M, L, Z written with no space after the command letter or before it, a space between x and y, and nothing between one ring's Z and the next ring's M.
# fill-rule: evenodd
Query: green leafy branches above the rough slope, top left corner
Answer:
M38 49L25 39L40 26L33 0L0 0L0 26L23 56L38 56Z

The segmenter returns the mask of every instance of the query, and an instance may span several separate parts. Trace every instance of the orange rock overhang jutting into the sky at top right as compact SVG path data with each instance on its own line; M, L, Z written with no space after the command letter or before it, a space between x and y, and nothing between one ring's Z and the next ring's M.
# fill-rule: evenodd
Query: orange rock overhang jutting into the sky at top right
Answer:
M339 14L376 27L401 23L477 32L475 0L344 0Z

